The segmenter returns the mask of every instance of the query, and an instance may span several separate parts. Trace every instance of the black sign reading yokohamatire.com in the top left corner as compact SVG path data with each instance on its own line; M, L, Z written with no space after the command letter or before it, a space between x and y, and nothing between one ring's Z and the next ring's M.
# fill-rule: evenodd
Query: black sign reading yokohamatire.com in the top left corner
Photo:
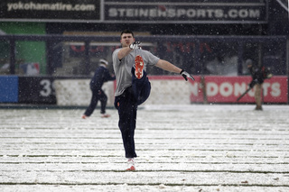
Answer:
M2 0L0 3L0 21L99 20L100 0Z

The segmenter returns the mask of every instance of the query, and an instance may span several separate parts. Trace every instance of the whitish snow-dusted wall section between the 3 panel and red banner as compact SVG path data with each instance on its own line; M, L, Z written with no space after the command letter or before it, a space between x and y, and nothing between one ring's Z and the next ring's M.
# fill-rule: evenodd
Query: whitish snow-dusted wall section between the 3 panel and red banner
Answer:
M190 104L190 83L182 78L151 79L150 82L152 86L151 96L144 102L144 105ZM89 79L56 79L54 88L57 105L89 105L91 98ZM115 82L109 81L102 88L107 94L107 106L113 106Z

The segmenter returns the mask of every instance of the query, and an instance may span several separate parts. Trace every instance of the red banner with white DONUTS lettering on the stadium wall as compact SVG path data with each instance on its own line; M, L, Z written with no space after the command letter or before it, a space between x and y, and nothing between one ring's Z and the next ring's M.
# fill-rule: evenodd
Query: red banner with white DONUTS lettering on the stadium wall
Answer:
M247 90L251 80L249 76L206 76L205 84L201 84L197 79L197 82L191 82L191 103L203 102L204 99L207 99L208 103L255 103L254 87L237 102L238 96ZM262 87L265 103L288 102L287 77L275 76L266 79Z

